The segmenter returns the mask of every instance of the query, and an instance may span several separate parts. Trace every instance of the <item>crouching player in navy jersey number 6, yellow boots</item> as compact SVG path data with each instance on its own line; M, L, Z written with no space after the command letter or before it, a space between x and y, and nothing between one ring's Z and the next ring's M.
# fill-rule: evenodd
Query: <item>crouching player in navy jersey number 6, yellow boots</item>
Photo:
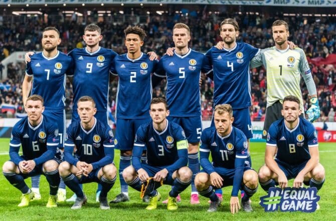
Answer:
M25 105L28 116L17 122L10 141L10 161L3 166L8 181L22 193L20 207L29 205L34 192L25 183L25 178L44 174L49 182L50 196L47 207L56 207L56 194L60 184L59 162L55 158L59 144L56 122L44 116L43 98L32 95ZM19 155L22 146L23 155Z

